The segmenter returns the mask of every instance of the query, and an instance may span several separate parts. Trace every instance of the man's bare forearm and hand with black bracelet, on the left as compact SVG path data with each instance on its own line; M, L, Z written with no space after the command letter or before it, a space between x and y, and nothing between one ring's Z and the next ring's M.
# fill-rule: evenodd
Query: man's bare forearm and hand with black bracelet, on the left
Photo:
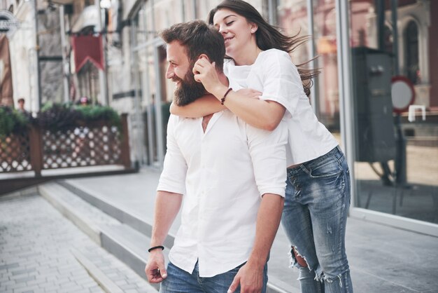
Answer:
M183 195L167 191L158 191L155 200L155 216L152 229L150 247L163 245L171 224L181 207ZM164 255L160 248L152 250L149 254L148 264L145 268L146 277L151 283L162 282L167 277Z

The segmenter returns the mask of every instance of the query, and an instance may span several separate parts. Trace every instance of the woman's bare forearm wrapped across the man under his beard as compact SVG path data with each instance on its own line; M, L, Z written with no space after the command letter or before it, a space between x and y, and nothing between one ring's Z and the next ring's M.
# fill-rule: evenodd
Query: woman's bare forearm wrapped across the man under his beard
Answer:
M170 105L171 114L186 118L201 118L225 109L227 107L221 105L213 95L204 95L185 106L177 106L175 103Z

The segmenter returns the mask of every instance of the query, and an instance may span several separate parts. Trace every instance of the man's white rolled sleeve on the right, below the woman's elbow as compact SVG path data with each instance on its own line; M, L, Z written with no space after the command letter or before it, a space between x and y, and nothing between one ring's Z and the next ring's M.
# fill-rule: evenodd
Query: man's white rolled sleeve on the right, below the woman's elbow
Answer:
M288 129L281 121L273 131L247 125L248 147L253 161L255 182L260 196L274 193L285 196Z

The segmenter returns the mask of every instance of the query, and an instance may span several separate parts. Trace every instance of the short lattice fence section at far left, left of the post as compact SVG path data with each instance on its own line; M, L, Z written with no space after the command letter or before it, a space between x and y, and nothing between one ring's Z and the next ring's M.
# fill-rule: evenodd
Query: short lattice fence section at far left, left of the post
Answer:
M0 137L0 172L33 170L30 161L29 132Z

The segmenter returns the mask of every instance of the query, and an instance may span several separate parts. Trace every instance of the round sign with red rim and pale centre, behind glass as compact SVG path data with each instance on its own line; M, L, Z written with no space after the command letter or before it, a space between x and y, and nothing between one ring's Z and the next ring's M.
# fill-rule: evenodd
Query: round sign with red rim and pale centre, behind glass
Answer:
M414 84L405 76L393 76L391 84L393 111L396 113L407 111L409 106L414 104Z

